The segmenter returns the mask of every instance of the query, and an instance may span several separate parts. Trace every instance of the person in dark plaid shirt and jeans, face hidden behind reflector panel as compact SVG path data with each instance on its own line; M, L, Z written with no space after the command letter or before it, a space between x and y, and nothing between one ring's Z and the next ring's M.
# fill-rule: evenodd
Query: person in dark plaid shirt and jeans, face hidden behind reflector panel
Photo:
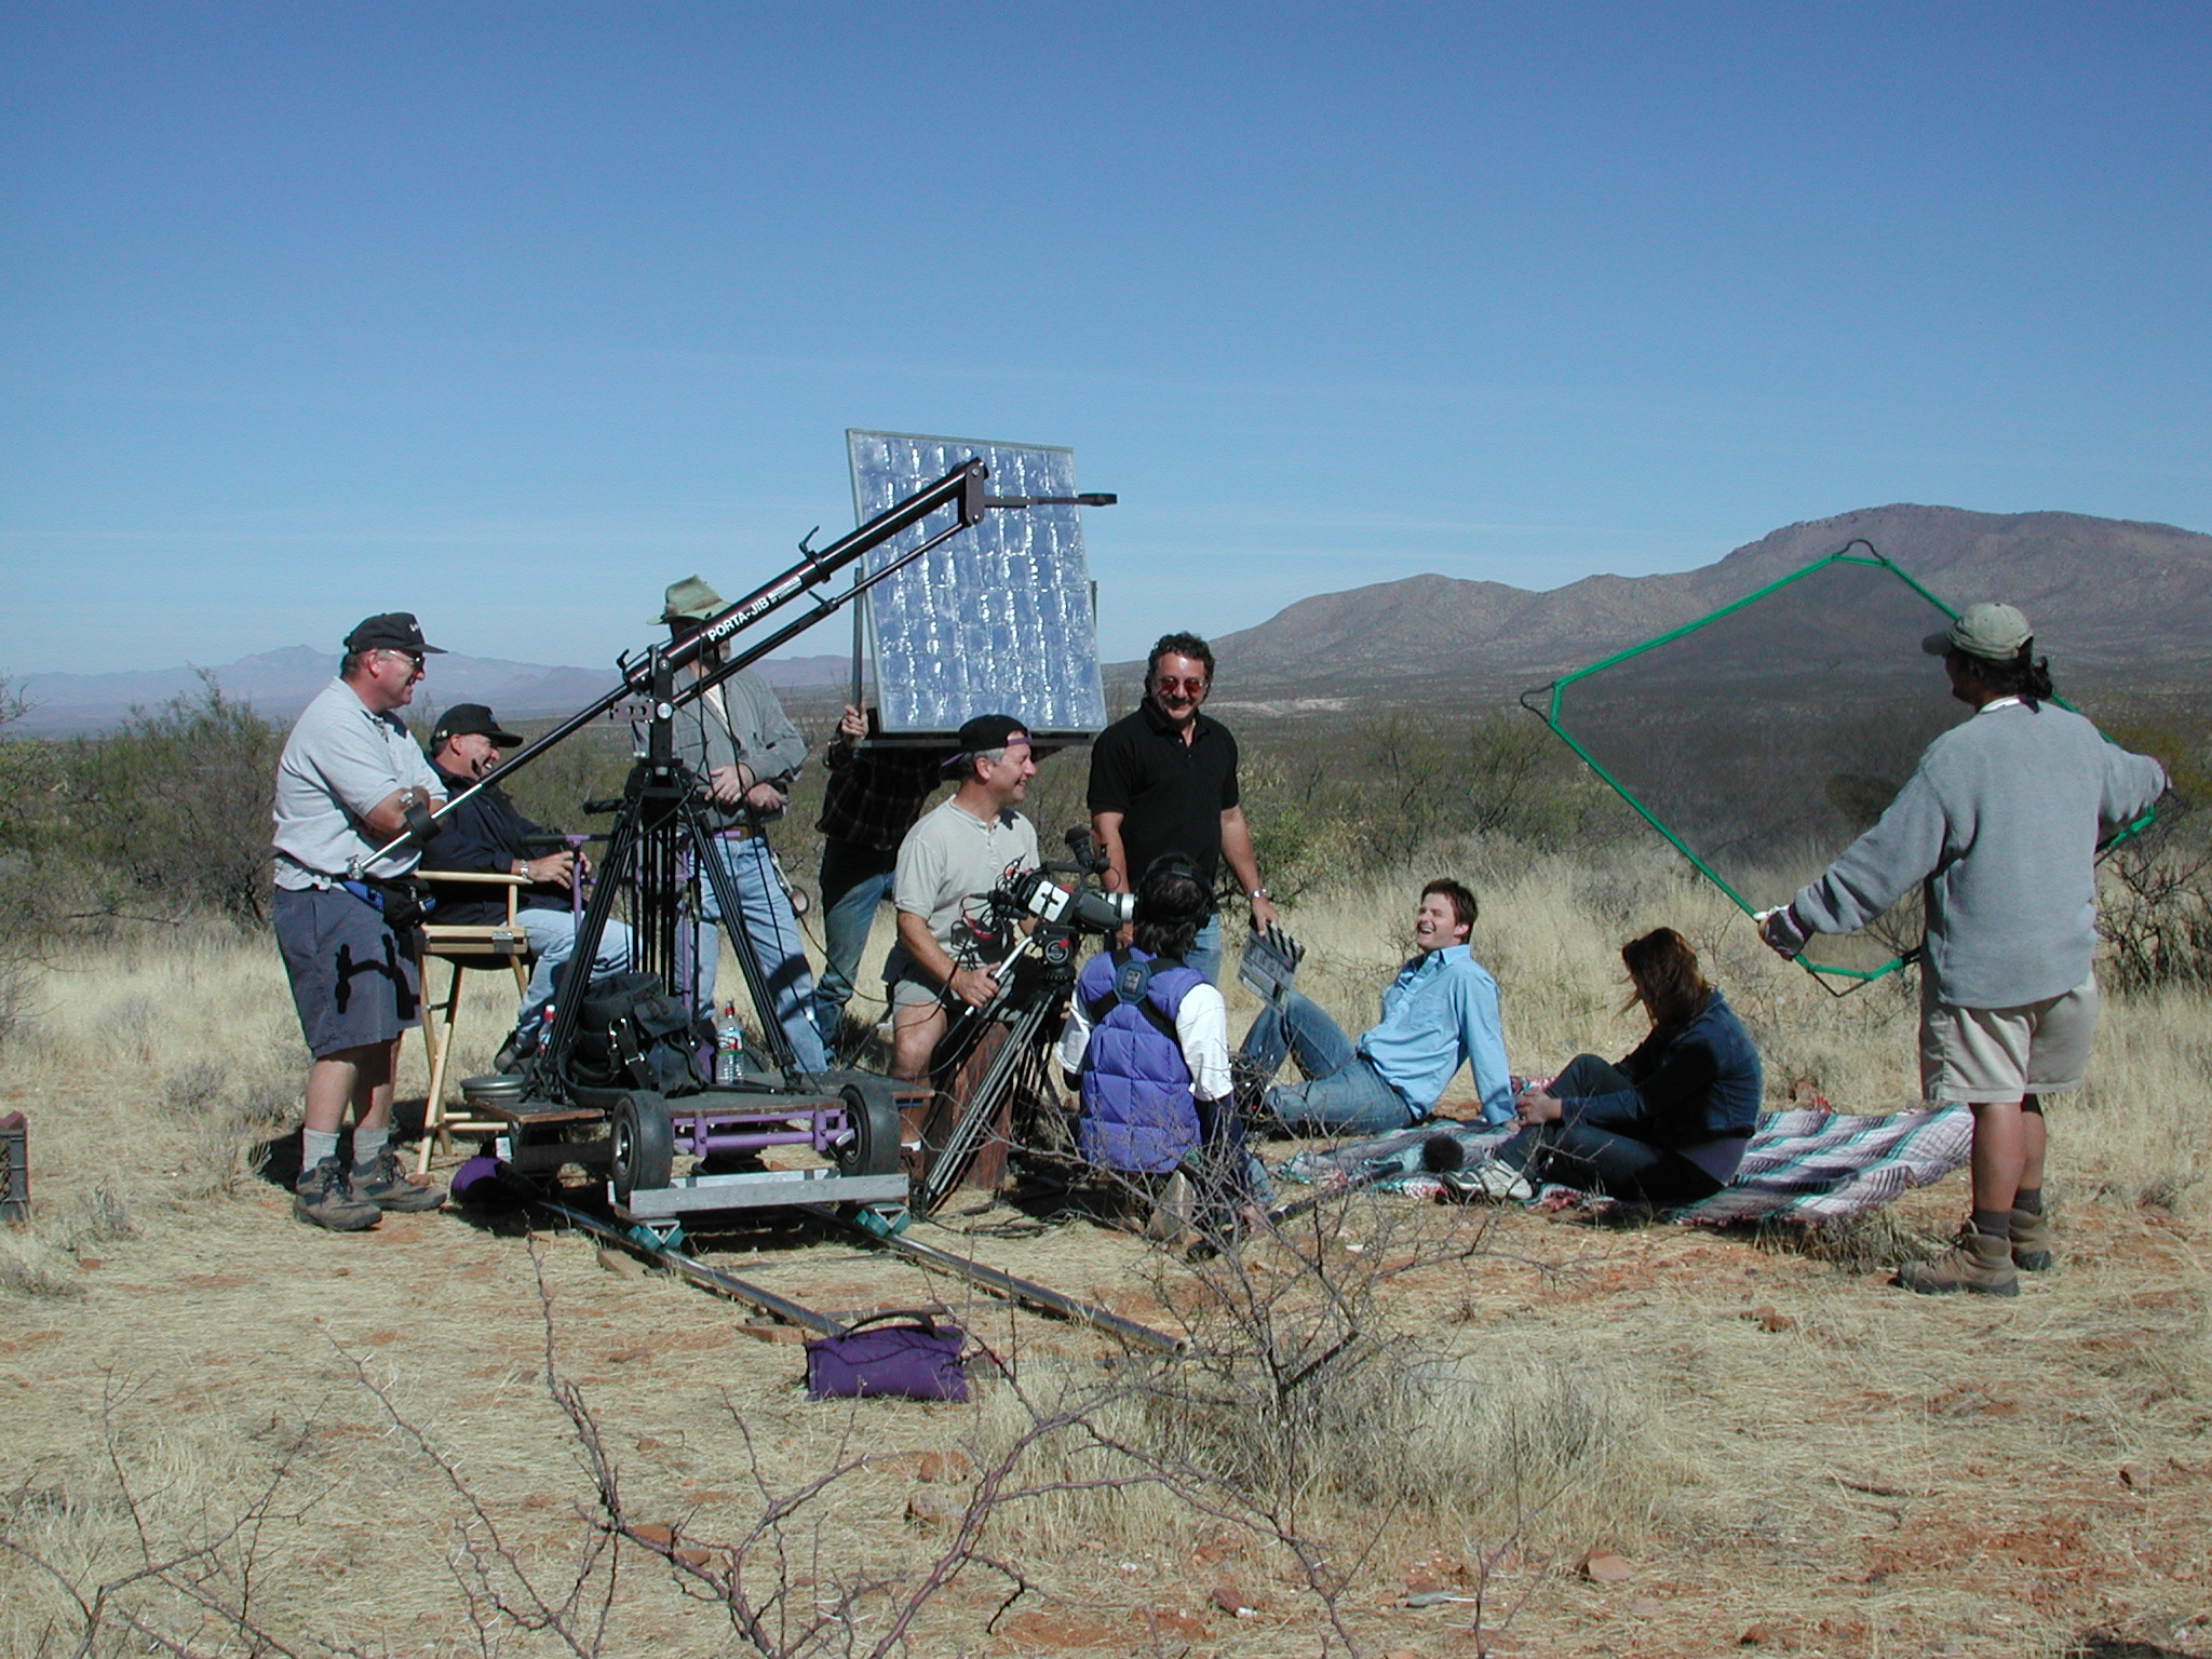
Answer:
M891 896L898 843L945 781L945 750L863 750L867 734L869 717L847 703L823 752L830 785L814 825L823 832L823 951L830 958L814 982L814 1024L832 1044L876 925L876 907Z

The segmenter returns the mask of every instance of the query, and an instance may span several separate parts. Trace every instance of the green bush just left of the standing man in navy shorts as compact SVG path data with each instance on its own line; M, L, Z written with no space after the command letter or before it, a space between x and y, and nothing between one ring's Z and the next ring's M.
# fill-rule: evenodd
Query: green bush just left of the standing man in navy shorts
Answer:
M283 732L212 679L71 743L69 843L100 872L108 911L265 920L281 750Z

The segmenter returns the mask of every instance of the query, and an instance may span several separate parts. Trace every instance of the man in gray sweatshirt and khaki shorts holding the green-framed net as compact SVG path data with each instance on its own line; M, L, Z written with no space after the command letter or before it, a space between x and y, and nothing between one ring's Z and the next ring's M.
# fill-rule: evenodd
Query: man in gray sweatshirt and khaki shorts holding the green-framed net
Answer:
M1796 956L1922 883L1920 1091L1973 1110L1973 1219L1898 1283L2017 1296L2015 1267L2051 1265L2042 1097L2081 1086L2097 1029L2097 841L2148 810L2166 772L2048 701L2051 664L2013 606L1969 606L1922 648L1973 719L1929 743L1880 823L1759 922Z

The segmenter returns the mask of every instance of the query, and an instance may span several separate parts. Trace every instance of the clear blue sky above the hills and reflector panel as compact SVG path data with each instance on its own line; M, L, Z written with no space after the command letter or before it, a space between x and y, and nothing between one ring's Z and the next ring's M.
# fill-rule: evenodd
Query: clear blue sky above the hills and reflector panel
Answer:
M18 0L0 672L602 664L847 529L845 427L1073 445L1108 657L1896 500L2212 531L2208 82L2203 4Z

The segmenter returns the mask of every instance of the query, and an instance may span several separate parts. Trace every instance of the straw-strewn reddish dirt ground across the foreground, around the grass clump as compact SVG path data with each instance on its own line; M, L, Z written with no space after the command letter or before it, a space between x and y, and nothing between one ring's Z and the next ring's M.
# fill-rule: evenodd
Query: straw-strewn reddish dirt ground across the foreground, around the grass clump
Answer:
M66 1093L18 1088L0 1110L29 1110L35 1135L71 1110ZM1938 1234L1960 1203L1953 1177L1898 1219ZM1413 1208L1352 1201L1301 1237L1338 1261L1378 1252L1398 1332L1475 1363L1595 1367L1635 1402L1635 1444L1610 1464L1613 1493L1562 1498L1520 1528L1400 1511L1338 1531L1352 1537L1340 1619L1360 1652L2039 1655L2093 1632L2150 1644L2137 1652L2212 1650L2203 1223L2066 1208L2062 1267L2020 1301L1984 1301L1909 1296L1747 1237L1522 1210L1425 1210L1407 1232ZM1177 1270L1141 1239L949 1210L916 1237L1139 1321L1181 1316ZM695 1234L692 1250L818 1310L945 1303L1015 1383L978 1367L969 1407L807 1402L787 1327L515 1210L338 1237L294 1223L288 1192L250 1179L142 1203L115 1234L77 1250L73 1287L0 1298L11 1535L97 1584L144 1559L142 1533L159 1553L274 1489L254 1522L259 1577L210 1584L259 1595L254 1617L307 1650L560 1648L511 1628L482 1639L482 1597L471 1617L465 1595L484 1584L471 1540L498 1542L491 1577L511 1599L582 1571L593 1473L549 1358L633 1531L699 1546L692 1566L757 1526L763 1493L843 1469L776 1564L796 1599L818 1599L843 1584L836 1562L876 1562L909 1588L927 1577L991 1469L998 1431L980 1425L1004 1422L1009 1389L1119 1354L794 1221ZM1031 1588L1006 1606L1009 1577L971 1562L922 1604L907 1650L1338 1650L1283 1551L1203 1517L1155 1526L1139 1495L1126 1502L1119 1531L1011 1506L991 1542ZM0 1648L69 1650L49 1577L18 1559L0 1566L9 1584ZM681 1584L681 1559L624 1544L602 1650L750 1650ZM1464 1599L1478 1584L1480 1635ZM201 1639L195 1652L217 1650Z

